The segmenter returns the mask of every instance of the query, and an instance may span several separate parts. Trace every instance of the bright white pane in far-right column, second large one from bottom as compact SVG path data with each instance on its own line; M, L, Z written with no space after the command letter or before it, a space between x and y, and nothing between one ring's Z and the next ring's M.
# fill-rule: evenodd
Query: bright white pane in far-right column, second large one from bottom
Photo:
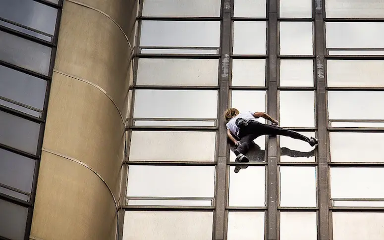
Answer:
M384 168L330 168L331 198L384 198Z

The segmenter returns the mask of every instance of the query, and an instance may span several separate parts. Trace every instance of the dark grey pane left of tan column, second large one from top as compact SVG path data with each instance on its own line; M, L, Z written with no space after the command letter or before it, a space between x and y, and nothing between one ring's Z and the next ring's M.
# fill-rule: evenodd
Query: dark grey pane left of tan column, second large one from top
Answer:
M48 75L51 48L0 31L0 60Z

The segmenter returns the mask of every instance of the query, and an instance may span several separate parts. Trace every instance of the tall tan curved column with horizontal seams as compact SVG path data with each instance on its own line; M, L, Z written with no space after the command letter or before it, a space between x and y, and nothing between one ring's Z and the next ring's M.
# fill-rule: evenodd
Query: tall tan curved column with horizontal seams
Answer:
M64 1L30 239L115 239L135 7Z

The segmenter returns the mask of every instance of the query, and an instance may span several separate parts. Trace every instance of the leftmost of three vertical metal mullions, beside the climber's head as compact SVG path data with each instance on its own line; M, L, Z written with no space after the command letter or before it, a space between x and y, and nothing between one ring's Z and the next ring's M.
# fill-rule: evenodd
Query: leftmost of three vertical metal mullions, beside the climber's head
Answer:
M219 154L216 169L216 210L215 210L215 240L223 240L225 236L225 205L226 205L226 162L228 158L227 136L224 119L221 117L228 108L229 96L229 55L231 41L231 0L221 0L221 58L219 74Z

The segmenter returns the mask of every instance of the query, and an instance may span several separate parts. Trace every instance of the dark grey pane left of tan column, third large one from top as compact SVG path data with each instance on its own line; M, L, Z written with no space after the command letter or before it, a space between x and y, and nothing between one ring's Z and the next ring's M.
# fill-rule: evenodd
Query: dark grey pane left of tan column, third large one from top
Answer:
M43 110L47 81L0 65L0 96Z

